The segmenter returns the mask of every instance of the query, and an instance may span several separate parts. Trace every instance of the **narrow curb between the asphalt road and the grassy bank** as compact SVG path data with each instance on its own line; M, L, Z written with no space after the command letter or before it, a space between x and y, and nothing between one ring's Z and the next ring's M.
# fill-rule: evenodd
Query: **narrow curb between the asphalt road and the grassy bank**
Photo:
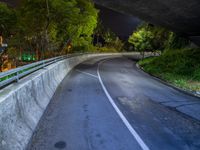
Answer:
M182 92L182 93L184 93L184 94L193 96L193 97L195 97L195 98L200 98L200 94L196 94L196 93L193 93L193 92L191 92L191 91L187 91L187 90L181 89L181 88L179 88L179 87L177 87L177 86L175 86L175 85L173 85L173 84L171 84L171 83L168 83L167 81L165 81L165 80L163 80L163 79L161 79L161 78L159 78L159 77L157 77L157 76L155 76L155 75L153 75L153 74L147 73L146 71L144 71L144 69L143 69L142 67L140 67L140 65L139 65L138 63L136 63L136 67L137 67L138 69L140 69L143 73L145 73L145 74L147 74L147 75L150 75L150 76L153 77L155 80L157 80L157 81L163 83L163 84L166 85L166 86L169 86L169 87L171 87L171 88L173 88L173 89L175 89L175 90L178 90L179 92Z

